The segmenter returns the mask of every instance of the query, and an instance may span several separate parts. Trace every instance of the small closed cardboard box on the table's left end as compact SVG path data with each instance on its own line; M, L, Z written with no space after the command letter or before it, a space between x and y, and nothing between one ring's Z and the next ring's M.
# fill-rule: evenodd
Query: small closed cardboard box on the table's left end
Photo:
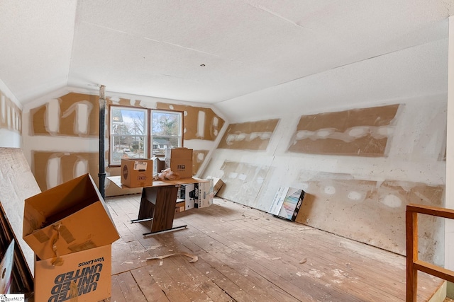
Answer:
M126 187L151 187L153 185L153 160L147 158L121 158L121 185Z

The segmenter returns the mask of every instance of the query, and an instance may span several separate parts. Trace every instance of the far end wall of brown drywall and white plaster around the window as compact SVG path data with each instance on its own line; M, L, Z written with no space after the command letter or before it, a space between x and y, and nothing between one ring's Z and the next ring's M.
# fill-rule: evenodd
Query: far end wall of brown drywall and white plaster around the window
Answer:
M155 98L135 98L111 95L106 98L106 173L119 175L118 167L109 167L109 105L140 108L175 108L187 112L184 118L184 146L196 140L194 174L206 161L224 120L210 108L186 105L165 105ZM25 153L41 190L60 185L84 173L90 173L95 182L99 173L99 95L74 91L57 91L28 104L24 120L28 126ZM199 112L204 112L200 114ZM203 120L201 120L203 119ZM219 128L218 128L219 127ZM201 130L203 129L203 131ZM203 135L202 135L203 134ZM189 144L190 145L190 144ZM120 190L106 182L106 196L140 192Z

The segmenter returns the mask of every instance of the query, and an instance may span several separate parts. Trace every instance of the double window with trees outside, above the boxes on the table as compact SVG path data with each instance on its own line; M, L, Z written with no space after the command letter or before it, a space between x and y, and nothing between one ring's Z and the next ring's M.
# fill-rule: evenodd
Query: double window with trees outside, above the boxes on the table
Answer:
M110 106L110 165L183 145L182 112ZM150 122L148 122L150 120Z

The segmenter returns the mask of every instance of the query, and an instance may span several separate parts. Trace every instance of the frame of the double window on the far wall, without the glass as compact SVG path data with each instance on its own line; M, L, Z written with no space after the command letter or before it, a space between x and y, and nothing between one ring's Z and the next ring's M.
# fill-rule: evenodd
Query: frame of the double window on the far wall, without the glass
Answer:
M145 112L145 134L114 134L113 133L113 125L114 125L114 117L113 117L113 110L115 108L121 108L125 110L137 110L141 112ZM119 167L121 166L120 162L113 162L114 161L114 137L144 137L144 154L146 158L153 157L153 112L169 112L171 114L179 114L179 135L177 136L178 145L180 147L184 146L184 112L179 110L166 110L166 109L153 109L153 108L142 108L142 107L135 107L135 106L125 106L125 105L116 105L111 104L109 105L109 167ZM162 136L158 136L162 137ZM175 137L175 136L174 136ZM159 147L159 144L158 144Z

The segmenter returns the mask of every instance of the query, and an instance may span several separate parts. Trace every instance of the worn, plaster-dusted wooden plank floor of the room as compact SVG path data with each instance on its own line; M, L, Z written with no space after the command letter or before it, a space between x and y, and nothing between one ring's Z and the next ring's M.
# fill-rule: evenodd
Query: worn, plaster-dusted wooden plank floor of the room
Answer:
M405 301L405 257L392 252L223 199L176 213L187 228L144 237L149 228L130 223L139 202L106 198L121 234L106 301ZM441 282L420 273L418 301Z

